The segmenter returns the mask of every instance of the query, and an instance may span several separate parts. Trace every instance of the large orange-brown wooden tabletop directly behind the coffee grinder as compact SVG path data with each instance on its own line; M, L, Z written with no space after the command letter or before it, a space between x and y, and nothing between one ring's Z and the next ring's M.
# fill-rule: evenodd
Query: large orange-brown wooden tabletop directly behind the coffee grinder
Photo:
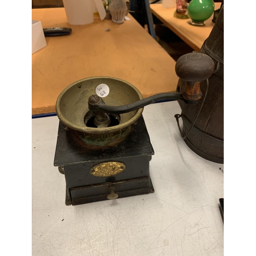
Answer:
M93 24L71 26L64 8L32 10L43 28L72 28L69 36L46 37L47 47L32 55L32 115L54 113L59 93L86 77L124 79L143 97L176 90L175 61L129 17L122 25L95 17Z

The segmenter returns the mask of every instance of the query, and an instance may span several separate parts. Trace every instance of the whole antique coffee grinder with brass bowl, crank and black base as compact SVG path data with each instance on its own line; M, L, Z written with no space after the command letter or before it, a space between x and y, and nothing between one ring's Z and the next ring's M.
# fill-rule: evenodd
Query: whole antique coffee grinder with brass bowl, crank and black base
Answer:
M143 108L162 100L197 104L203 96L200 83L214 68L206 54L185 54L175 67L185 90L144 99L131 83L113 77L85 78L64 89L56 102L59 128L54 166L65 175L66 205L153 193L150 160L154 150Z

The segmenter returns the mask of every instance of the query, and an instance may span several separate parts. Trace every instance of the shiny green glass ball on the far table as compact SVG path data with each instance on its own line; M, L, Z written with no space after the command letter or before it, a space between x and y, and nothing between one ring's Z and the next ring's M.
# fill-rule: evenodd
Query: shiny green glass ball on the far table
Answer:
M192 0L187 7L188 17L198 23L203 23L212 13L214 13L212 0Z

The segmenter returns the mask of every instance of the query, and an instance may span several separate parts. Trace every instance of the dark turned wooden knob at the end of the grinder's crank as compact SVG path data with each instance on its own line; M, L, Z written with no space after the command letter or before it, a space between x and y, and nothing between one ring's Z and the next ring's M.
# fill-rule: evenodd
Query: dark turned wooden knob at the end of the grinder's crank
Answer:
M215 70L214 61L204 53L192 52L181 56L175 66L177 76L186 82L182 93L185 100L199 100L202 97L200 83L208 79Z

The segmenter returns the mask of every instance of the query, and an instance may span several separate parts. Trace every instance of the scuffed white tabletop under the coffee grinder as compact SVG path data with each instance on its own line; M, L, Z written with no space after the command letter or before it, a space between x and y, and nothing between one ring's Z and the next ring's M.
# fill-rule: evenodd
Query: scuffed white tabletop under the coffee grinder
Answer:
M155 193L65 205L64 175L53 166L58 118L32 119L32 255L223 255L223 164L182 140L178 102L144 108L155 155Z

